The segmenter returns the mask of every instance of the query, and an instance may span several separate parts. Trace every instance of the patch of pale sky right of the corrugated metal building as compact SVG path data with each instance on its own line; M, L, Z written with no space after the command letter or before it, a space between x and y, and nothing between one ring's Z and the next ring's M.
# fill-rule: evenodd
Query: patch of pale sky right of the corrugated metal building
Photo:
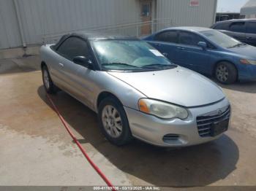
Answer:
M240 12L249 0L218 0L217 12Z

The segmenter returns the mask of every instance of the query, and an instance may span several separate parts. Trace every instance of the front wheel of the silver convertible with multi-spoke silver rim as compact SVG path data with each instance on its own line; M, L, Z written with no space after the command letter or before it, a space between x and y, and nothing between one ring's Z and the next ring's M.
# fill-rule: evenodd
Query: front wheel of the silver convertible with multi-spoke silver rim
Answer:
M121 146L132 140L127 114L116 98L108 97L100 102L98 120L99 128L110 143Z

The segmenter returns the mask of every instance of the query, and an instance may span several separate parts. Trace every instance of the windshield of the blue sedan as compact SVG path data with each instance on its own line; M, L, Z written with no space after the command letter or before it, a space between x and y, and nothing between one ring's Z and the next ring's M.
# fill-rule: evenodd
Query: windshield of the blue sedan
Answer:
M200 33L221 47L232 48L243 44L238 40L216 30L201 31Z

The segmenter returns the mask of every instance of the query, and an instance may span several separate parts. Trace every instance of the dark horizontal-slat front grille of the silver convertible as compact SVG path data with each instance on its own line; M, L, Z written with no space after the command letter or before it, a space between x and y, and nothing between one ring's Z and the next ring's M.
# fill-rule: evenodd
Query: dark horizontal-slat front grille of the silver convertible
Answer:
M211 136L211 127L215 122L220 122L230 118L230 106L217 111L203 114L197 117L197 130L201 137Z

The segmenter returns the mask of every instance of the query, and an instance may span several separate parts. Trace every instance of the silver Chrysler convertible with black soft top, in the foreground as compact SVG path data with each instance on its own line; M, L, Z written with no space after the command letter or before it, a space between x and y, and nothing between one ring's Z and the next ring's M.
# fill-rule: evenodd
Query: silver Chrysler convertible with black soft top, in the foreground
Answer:
M45 90L64 90L97 112L113 144L135 137L184 147L217 139L228 128L230 104L221 88L139 39L68 34L40 52Z

